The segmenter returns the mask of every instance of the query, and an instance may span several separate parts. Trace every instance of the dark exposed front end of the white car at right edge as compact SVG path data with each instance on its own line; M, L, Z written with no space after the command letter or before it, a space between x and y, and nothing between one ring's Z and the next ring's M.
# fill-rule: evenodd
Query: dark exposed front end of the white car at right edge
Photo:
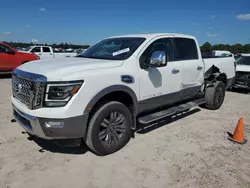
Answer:
M250 73L236 72L233 83L234 88L250 89Z

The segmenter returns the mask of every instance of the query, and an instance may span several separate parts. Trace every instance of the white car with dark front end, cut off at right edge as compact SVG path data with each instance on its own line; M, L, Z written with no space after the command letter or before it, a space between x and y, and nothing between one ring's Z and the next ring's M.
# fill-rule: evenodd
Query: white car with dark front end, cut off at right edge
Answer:
M250 89L250 54L241 54L237 58L233 87Z

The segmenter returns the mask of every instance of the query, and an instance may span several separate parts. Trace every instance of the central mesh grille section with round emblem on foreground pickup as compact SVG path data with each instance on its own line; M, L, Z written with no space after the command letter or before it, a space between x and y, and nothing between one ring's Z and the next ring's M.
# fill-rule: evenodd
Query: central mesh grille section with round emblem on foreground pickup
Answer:
M20 102L29 106L33 99L33 82L16 75L12 76L12 93Z

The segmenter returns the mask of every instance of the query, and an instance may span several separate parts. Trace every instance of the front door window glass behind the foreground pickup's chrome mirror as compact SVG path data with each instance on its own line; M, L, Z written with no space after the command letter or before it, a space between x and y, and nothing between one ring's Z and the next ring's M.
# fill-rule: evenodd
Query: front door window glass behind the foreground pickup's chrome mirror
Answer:
M163 38L154 41L150 44L147 49L143 52L140 57L140 66L143 67L143 64L149 63L150 57L155 51L165 51L167 61L174 60L174 50L173 50L173 39Z

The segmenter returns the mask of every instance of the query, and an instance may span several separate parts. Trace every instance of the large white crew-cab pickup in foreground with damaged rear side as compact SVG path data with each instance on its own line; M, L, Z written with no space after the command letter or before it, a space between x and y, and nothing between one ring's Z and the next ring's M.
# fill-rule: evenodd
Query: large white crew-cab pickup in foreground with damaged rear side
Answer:
M15 69L13 115L31 135L81 139L108 155L127 144L138 123L201 104L219 109L234 76L233 57L203 59L193 36L115 36L78 57Z

